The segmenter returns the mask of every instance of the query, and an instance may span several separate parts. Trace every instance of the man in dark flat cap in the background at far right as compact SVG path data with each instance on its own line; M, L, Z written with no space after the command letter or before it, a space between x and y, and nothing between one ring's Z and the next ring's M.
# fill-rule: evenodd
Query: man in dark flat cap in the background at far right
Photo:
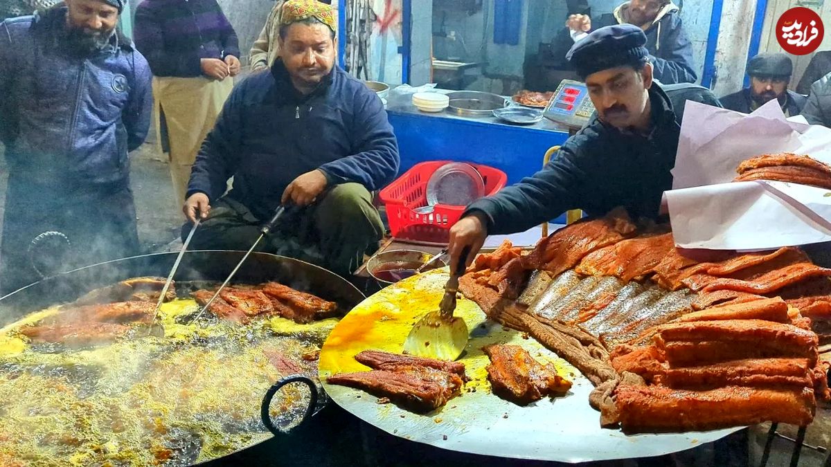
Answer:
M805 105L805 97L790 91L788 81L794 63L784 53L760 53L747 63L750 87L721 97L721 106L731 111L749 114L773 99L785 116L796 116Z

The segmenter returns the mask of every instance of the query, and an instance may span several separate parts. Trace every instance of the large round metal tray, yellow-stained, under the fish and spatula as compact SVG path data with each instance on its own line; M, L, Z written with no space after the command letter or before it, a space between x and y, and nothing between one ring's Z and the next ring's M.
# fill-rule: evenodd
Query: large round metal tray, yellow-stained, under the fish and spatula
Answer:
M401 353L413 324L435 311L444 293L447 269L408 278L367 298L344 317L327 338L320 356L320 379L337 405L385 430L436 447L478 455L558 462L588 462L665 455L718 440L740 428L661 435L624 435L600 427L600 414L588 405L592 384L573 366L520 332L490 322L484 312L460 299L455 315L470 329L470 342L460 361L471 381L462 396L434 412L418 415L392 404L379 405L374 396L330 385L327 376L366 371L354 356L366 349ZM538 361L549 361L573 382L567 396L516 406L490 393L488 357L491 343L519 345ZM475 389L475 392L473 392Z

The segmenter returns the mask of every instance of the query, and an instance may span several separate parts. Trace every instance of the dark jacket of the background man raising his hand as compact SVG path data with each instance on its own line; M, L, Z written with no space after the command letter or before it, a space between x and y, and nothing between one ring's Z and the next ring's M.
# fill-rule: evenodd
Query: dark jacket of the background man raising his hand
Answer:
M592 21L592 27L597 29L626 22L628 7L629 2L623 3L614 12L602 15L597 22ZM667 4L644 33L656 80L661 84L696 82L698 76L692 65L692 42L681 24L678 7Z

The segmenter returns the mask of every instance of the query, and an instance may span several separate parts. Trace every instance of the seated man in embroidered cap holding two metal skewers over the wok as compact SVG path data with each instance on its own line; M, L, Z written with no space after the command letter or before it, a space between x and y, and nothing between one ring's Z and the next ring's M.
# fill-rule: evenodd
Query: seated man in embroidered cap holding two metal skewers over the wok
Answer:
M291 208L263 251L347 275L377 248L370 191L396 176L398 145L378 96L334 66L335 28L329 5L286 2L279 60L234 88L196 158L184 214L204 221L192 248L248 249L280 204Z

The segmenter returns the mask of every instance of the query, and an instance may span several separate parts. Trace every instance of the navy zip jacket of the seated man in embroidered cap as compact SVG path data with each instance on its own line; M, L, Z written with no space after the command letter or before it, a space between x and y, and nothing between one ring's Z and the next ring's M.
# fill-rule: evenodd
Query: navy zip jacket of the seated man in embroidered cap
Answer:
M297 176L320 169L329 184L380 189L398 173L398 143L381 100L335 67L308 96L283 61L234 87L196 157L188 196L217 199L234 176L232 199L265 219Z

